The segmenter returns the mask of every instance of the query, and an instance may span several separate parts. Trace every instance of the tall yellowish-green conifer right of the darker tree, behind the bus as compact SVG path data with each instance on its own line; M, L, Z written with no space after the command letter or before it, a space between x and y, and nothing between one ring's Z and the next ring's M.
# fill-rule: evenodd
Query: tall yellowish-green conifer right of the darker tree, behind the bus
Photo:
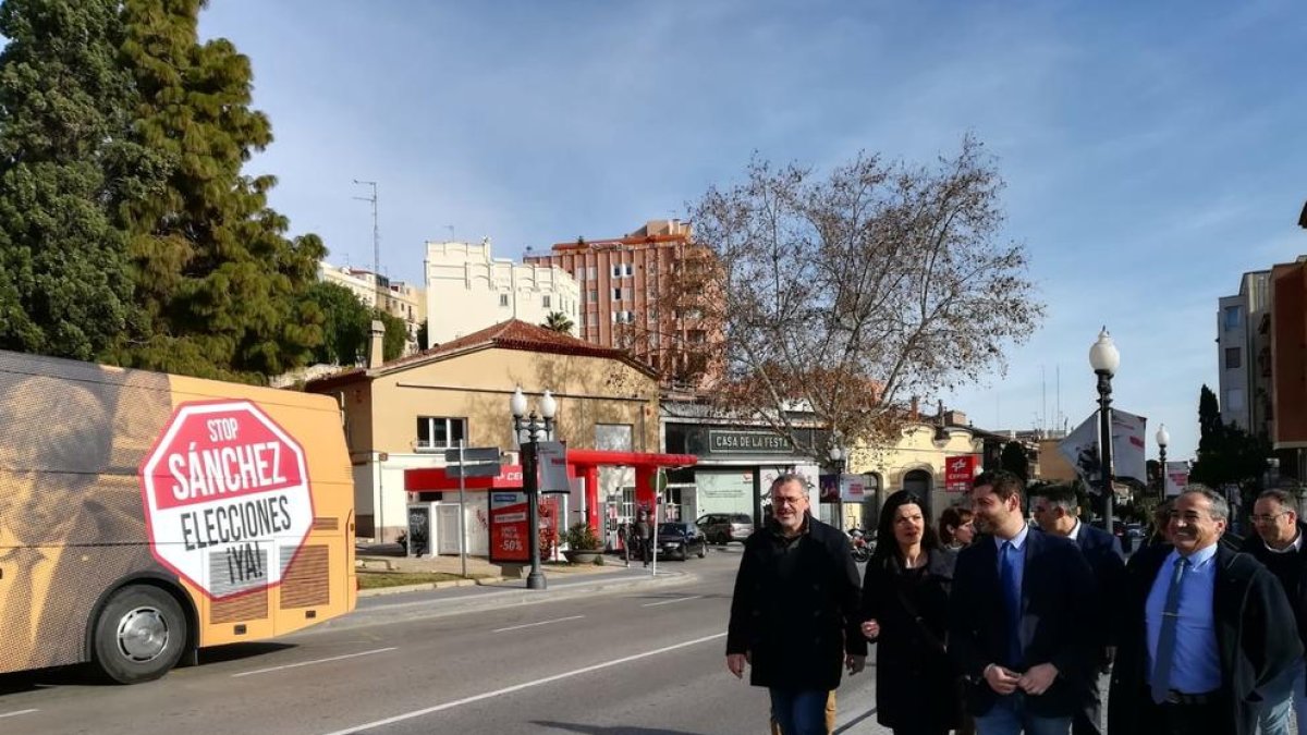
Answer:
M250 60L200 43L203 0L125 0L123 52L140 103L133 140L165 160L157 186L124 204L145 310L124 364L261 382L302 365L323 339L307 296L325 248L290 239L267 204L273 177L242 174L272 143L250 107Z

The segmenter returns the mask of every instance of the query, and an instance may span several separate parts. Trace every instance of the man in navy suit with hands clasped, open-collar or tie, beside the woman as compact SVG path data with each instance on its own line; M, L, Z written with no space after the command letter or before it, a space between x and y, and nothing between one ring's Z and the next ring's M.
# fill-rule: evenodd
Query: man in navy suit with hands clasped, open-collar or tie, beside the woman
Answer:
M1076 544L1030 528L1025 483L975 479L984 535L962 549L949 596L949 654L980 735L1067 735L1093 675L1094 577Z

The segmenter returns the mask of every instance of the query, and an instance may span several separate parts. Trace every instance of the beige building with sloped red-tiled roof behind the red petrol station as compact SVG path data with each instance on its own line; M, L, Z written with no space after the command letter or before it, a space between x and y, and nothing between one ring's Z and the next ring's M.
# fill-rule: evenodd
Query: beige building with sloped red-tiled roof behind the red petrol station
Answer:
M553 392L554 436L570 447L657 451L657 381L647 366L616 349L505 322L306 386L336 396L345 411L358 535L393 540L406 526L404 471L443 466L443 450L460 439L514 451L508 399L518 387L532 405ZM477 496L482 507L485 494ZM474 535L484 513L467 517Z

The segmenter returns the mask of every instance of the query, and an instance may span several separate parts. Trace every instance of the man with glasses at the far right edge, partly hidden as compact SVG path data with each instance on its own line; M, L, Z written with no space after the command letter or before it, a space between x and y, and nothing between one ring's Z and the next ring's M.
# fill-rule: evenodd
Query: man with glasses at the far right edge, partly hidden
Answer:
M1307 646L1307 552L1303 551L1303 528L1294 501L1283 490L1266 490L1252 505L1252 527L1256 534L1243 543L1243 551L1280 579L1289 595L1298 623L1298 637ZM1289 713L1298 715L1298 730L1307 731L1307 677L1303 659L1294 662L1278 681L1263 692L1261 735L1289 735Z

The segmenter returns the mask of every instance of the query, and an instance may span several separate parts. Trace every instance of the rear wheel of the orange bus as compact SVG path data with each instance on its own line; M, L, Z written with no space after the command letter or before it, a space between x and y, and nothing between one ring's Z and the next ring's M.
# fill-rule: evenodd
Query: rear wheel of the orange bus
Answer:
M152 681L176 666L186 641L186 615L171 595L124 587L95 621L95 664L119 684Z

